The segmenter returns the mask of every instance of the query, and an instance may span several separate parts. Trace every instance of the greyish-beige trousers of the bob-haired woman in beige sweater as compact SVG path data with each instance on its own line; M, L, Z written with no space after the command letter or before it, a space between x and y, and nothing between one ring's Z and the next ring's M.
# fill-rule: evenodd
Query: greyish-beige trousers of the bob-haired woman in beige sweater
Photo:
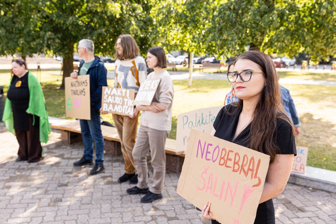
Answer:
M151 151L154 173L153 184L149 190L155 194L161 193L166 173L165 144L168 134L168 131L160 131L142 125L140 126L132 153L138 174L138 188L143 189L148 187L146 155Z

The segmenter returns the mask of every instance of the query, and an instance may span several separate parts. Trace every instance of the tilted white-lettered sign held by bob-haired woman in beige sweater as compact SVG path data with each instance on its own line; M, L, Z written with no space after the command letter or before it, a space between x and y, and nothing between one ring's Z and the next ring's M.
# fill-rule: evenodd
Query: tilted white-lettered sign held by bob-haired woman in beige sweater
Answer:
M152 103L156 89L160 84L161 78L158 79L146 79L139 88L138 93L134 99L134 105L146 105L149 106Z

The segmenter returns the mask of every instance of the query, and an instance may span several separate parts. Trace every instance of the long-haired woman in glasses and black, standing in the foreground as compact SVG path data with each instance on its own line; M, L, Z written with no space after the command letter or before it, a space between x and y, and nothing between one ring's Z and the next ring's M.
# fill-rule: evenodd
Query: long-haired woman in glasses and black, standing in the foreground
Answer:
M296 155L293 125L280 103L274 63L262 52L247 51L237 58L227 78L239 101L219 111L213 124L214 136L270 156L254 223L274 224L272 198L284 190ZM212 219L209 210L203 207L203 219Z

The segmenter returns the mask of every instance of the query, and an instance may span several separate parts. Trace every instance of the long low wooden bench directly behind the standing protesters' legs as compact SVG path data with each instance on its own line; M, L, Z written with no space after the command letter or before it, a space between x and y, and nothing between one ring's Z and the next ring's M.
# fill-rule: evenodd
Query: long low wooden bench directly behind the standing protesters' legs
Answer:
M50 120L50 119L49 119ZM82 141L79 120L56 119L50 120L51 128L61 131L61 140L68 144ZM104 138L104 153L114 156L121 155L120 139L115 127L101 125L101 133ZM167 138L166 146L166 170L171 173L179 173L184 162L184 151L176 151L176 140Z

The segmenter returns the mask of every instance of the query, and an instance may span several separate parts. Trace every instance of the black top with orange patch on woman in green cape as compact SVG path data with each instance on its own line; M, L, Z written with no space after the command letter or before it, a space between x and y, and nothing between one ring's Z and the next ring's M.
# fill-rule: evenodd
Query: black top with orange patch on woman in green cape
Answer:
M26 110L29 107L29 88L28 88L28 73L19 78L13 76L7 92L7 98L11 101L14 129L27 131L29 130L29 120L33 115L27 114ZM39 117L35 116L35 127L39 126Z

